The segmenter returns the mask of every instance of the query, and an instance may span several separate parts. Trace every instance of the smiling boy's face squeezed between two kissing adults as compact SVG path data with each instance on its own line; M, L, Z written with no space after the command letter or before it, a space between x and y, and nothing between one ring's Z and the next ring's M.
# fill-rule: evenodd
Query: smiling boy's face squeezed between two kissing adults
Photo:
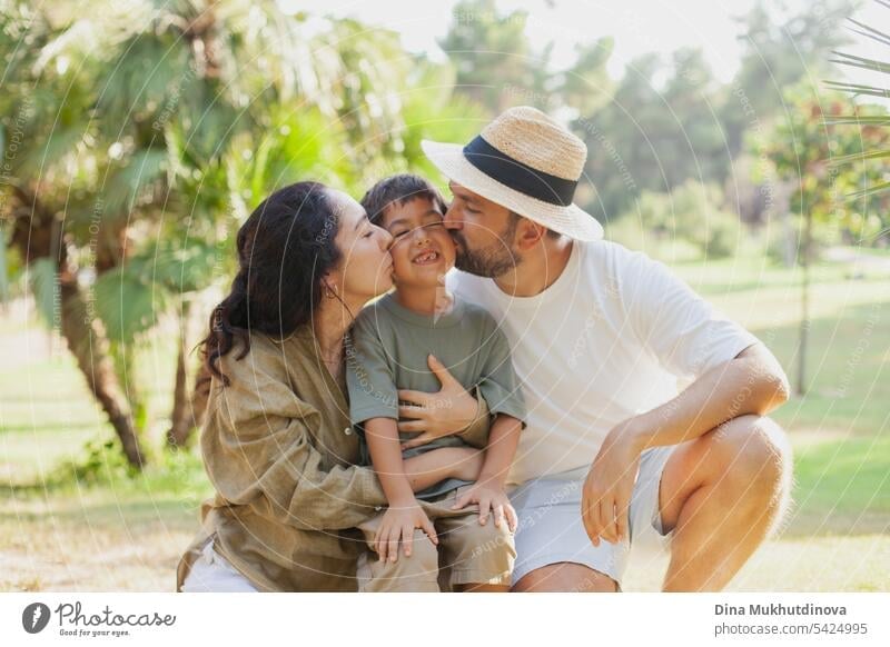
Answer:
M380 226L393 236L389 253L396 287L436 287L454 267L454 242L442 218L426 198L394 202L384 210Z

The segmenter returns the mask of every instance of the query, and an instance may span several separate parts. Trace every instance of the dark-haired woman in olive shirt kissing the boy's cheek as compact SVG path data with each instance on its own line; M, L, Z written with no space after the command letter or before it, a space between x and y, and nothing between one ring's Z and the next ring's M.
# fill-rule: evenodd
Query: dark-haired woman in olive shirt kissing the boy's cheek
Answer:
M316 182L276 191L238 231L239 270L202 341L212 379L200 442L216 495L177 590L356 590L363 541L350 529L386 497L353 465L344 339L392 287L390 242L355 200ZM415 430L484 446L487 407L447 382L436 398L451 407L419 414Z

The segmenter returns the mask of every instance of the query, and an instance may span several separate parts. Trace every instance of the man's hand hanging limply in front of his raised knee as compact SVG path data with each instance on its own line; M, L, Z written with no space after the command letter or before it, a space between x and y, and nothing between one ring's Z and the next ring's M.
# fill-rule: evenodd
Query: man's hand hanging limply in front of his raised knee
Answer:
M629 510L640 469L640 449L623 426L609 432L584 481L581 517L594 546L617 544L629 536Z

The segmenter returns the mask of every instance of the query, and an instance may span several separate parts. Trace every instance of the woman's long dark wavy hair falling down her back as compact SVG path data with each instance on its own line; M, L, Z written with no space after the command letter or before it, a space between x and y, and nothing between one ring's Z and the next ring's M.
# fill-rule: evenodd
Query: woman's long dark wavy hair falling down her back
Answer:
M284 339L312 319L322 279L340 260L338 229L327 187L318 182L279 189L250 213L238 230L238 273L199 345L210 375L228 386L218 361L236 342L240 360L250 351L250 332Z

